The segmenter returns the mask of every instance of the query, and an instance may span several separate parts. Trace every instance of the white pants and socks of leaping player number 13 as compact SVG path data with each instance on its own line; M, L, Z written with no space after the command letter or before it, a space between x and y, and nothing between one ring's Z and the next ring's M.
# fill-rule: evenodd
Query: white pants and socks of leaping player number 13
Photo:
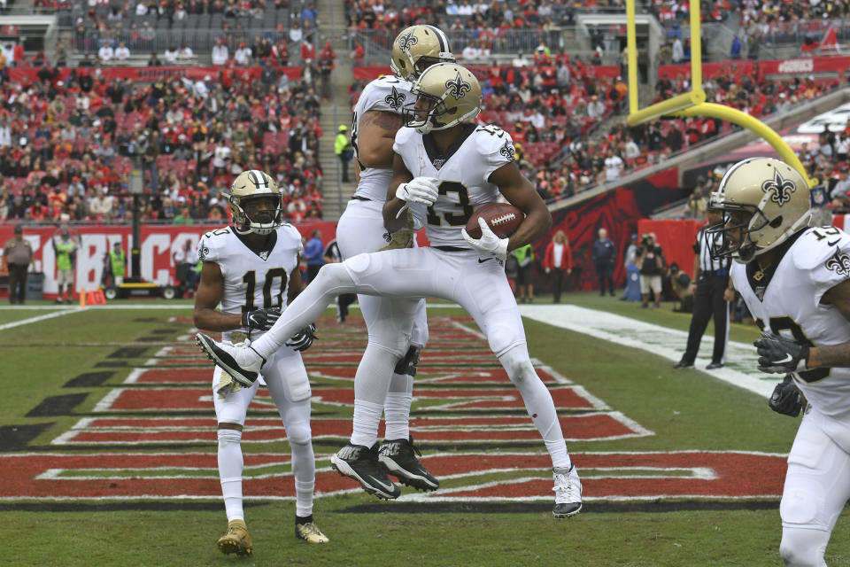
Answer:
M333 298L352 292L392 298L438 297L460 304L483 330L491 350L522 393L554 466L569 466L552 396L531 366L522 317L498 260L479 258L472 250L406 248L359 254L340 264L327 264L274 327L251 346L267 358L298 329L315 321ZM397 341L396 352L404 353L405 338Z

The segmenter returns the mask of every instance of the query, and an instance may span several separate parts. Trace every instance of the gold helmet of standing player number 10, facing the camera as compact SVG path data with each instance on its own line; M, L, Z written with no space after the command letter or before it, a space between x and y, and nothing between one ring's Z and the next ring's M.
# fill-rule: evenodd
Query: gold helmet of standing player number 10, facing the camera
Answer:
M239 234L266 235L283 223L281 190L270 175L259 169L248 169L236 176L230 185L228 205Z

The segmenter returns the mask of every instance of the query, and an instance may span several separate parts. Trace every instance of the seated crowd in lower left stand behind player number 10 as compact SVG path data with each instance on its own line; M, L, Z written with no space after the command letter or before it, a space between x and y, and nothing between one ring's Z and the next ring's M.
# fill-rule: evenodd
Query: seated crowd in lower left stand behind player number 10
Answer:
M290 217L321 217L315 75L251 76L228 67L143 85L44 66L31 84L4 82L0 220L129 221L135 159L145 221L223 218L222 191L247 168L276 177Z

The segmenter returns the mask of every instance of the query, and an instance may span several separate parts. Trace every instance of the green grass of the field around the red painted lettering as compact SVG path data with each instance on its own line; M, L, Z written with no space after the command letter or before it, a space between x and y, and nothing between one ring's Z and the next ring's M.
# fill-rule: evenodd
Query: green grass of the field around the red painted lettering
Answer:
M687 329L690 321L687 315L671 313L668 306L646 310L591 294L573 294L568 296L568 301L675 329ZM130 369L157 359L159 349L173 345L191 328L185 320L172 320L190 317L191 308L185 302L113 302L113 305L171 308L88 308L0 330L0 344L3 345L0 352L4 353L4 395L0 398L0 447L4 453L0 454L0 478L6 485L0 496L0 530L7 534L4 559L0 563L4 565L781 564L778 555L781 527L776 496L735 499L707 494L663 499L606 499L592 492L591 480L585 485L587 501L583 512L568 521L557 521L551 514L551 501L547 500L380 502L353 490L317 498L314 516L331 540L321 547L308 546L293 536L293 501L252 498L246 502L246 519L255 554L246 559L220 555L214 545L226 527L220 498L86 500L84 491L68 497L69 493L74 493L76 480L25 478L28 469L16 467L8 457L97 453L104 454L104 459L120 459L122 455L158 452L214 456L216 451L214 435L210 438L212 441L161 442L151 446L120 440L104 446L86 442L69 446L51 444L71 431L81 418L122 416L115 407L103 411L98 402L110 392L131 389L124 384ZM0 325L55 312L53 309L4 308L0 309ZM446 321L448 317L463 315L460 310L445 308L429 311L430 317ZM474 323L460 322L475 327ZM344 330L335 325L326 322L320 328L321 339L314 350L330 345L337 338L362 339L357 332L343 334ZM797 420L770 412L766 400L760 396L699 371L676 371L668 360L645 351L554 329L539 322L527 321L526 330L532 356L583 386L611 410L622 412L653 433L623 439L569 442L570 452L576 455L580 470L583 462L591 462L593 454L602 452L784 454L791 446ZM731 332L731 338L742 342L755 337L757 332L752 328L735 326ZM468 344L472 345L473 341ZM449 354L463 353L466 345L461 341L459 346L443 346L442 349ZM185 346L191 343L186 341ZM437 350L435 347L434 352ZM308 370L312 371L310 359L305 360ZM182 368L176 365L174 372L179 375ZM493 359L483 363L481 368L497 369L498 365ZM209 371L212 373L212 367ZM421 372L428 372L424 360ZM350 382L343 384L344 387L350 385ZM417 385L414 395L416 392L439 392L447 387L444 384L421 385ZM314 391L331 386L340 387L340 383L330 378L313 379ZM156 387L138 386L147 392ZM176 392L197 387L197 384L174 385ZM457 385L459 389L473 387L475 384ZM498 387L513 390L510 384ZM437 410L433 404L428 400L418 401L413 417L469 415L468 410ZM582 415L581 411L568 413ZM351 408L314 402L313 414L314 418L349 419ZM518 417L524 416L524 410L505 409L487 415ZM198 406L188 411L163 408L161 411L135 411L128 416L158 419L189 416L214 420L212 402L206 408ZM274 414L269 409L249 413L246 437L252 416L272 417ZM313 431L316 431L315 423ZM343 442L343 438L314 441L317 455L323 455L317 468L325 471L325 476L317 479L317 490L328 492L327 486L322 485L323 479L328 482L331 479L327 474L327 455ZM495 454L503 449L529 453L529 456L545 454L537 438L506 447L499 443L429 440L420 440L418 445L426 457L469 450ZM246 457L251 454L288 455L289 447L284 440L246 443L244 452ZM440 470L431 470L440 476ZM140 472L138 476L145 474L148 473ZM187 476L192 474L201 473L189 472ZM647 474L660 473L649 471ZM545 471L539 475L549 479L548 489L551 489L551 476L547 477ZM506 471L484 475L481 481L520 476L520 471ZM599 477L598 486L603 486L606 481L602 476L603 472L591 467L583 478ZM781 487L781 474L769 472L761 478L761 471L752 470L747 476L751 479L749 482L756 485L763 480L765 485ZM339 479L336 475L333 478L344 488L356 488L347 479ZM24 483L25 480L29 484ZM43 486L50 486L44 490L52 490L55 486L56 495L61 499L27 498L27 493L15 493L19 482L33 490L42 490ZM108 484L107 480L104 482ZM165 481L158 478L142 481L122 478L112 484L120 490L130 482L141 482L149 486L152 493L156 492L158 484L165 485ZM213 478L205 482L215 485L218 481ZM267 483L272 492L278 485L290 485L291 477L277 476L257 482ZM443 486L452 490L462 487L464 482L462 478L449 478ZM650 478L644 482L652 485L653 481ZM503 486L509 491L510 485ZM190 492L187 488L187 493ZM409 492L410 489L404 489L405 494ZM25 497L19 498L21 495ZM847 537L850 522L846 516L839 519L827 550L830 565L850 564L850 538Z

